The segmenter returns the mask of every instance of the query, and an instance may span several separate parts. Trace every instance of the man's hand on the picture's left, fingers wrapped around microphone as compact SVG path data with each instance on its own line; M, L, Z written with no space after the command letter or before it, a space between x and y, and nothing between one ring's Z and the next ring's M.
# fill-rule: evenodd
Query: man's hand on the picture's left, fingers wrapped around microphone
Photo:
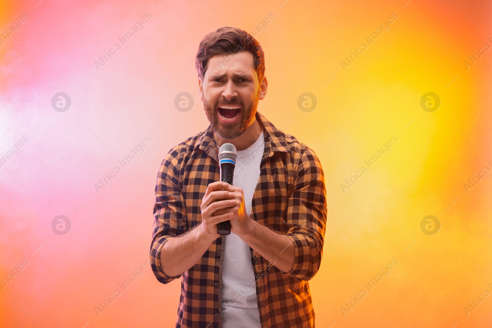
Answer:
M214 240L220 236L217 234L217 223L230 220L234 217L232 212L214 216L216 210L227 209L236 205L234 193L228 191L228 187L229 183L227 182L216 181L210 183L200 206L202 212L202 224L200 225L202 232L214 237Z

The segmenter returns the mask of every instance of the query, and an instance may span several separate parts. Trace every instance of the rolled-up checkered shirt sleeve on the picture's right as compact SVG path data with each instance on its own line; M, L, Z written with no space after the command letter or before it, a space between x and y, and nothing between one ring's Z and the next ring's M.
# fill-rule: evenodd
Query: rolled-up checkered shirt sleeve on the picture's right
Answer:
M311 149L300 157L286 215L294 244L294 266L286 275L309 280L319 269L326 230L326 187L321 163Z

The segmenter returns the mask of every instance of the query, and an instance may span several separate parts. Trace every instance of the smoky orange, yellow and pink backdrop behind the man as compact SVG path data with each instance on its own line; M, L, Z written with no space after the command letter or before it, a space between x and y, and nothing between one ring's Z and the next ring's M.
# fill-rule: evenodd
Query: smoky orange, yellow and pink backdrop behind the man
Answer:
M258 111L323 165L331 203L309 282L317 327L492 323L490 296L463 310L492 293L492 173L463 186L492 169L491 50L463 63L492 46L490 1L13 2L1 4L0 32L29 18L0 44L0 279L29 264L0 291L1 327L174 327L180 282L162 285L151 268L104 312L94 307L149 257L156 174L171 147L208 126L194 57L223 26L257 34L269 81ZM144 29L96 67L146 13ZM64 112L51 105L57 92L71 99ZM174 106L181 92L194 98L188 112ZM298 107L303 92L316 108ZM427 92L437 110L421 107ZM146 136L143 152L97 191ZM366 166L392 136L390 151ZM343 190L361 166L367 172ZM52 230L57 215L70 220L68 234ZM440 223L434 235L421 230L427 215ZM392 259L398 265L369 291ZM367 295L342 311L361 289Z

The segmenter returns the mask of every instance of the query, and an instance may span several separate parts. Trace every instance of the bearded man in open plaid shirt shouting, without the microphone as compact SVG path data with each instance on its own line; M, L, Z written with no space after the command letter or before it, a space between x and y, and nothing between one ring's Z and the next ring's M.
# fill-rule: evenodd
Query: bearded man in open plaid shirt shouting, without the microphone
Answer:
M314 327L307 280L326 227L321 164L256 111L268 82L249 33L207 34L196 68L210 126L162 161L150 251L159 282L182 278L176 327ZM232 185L220 181L224 143L238 150ZM231 234L221 236L226 220Z

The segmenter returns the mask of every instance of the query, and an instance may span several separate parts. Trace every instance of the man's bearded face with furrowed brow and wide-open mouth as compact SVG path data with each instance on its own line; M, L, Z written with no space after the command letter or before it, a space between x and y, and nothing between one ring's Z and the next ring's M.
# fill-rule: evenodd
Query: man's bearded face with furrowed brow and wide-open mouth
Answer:
M266 85L259 87L253 54L247 51L210 58L198 86L205 114L222 139L235 139L246 131L266 93Z

